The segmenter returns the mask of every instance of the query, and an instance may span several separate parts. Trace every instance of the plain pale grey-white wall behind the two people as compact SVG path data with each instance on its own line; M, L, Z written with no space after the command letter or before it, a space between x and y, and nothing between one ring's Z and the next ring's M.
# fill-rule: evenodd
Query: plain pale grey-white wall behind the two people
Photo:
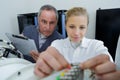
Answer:
M19 34L17 14L38 12L44 4L51 4L58 10L82 6L88 10L90 23L87 37L95 38L96 10L120 8L119 0L0 0L0 39L7 39L6 32Z

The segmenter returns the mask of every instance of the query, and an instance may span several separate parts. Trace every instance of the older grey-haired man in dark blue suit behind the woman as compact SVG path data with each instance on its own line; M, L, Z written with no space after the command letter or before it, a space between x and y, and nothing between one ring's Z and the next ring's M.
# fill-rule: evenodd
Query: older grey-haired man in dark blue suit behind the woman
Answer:
M23 30L23 35L34 39L39 52L46 50L51 42L61 39L63 36L55 29L58 21L58 12L51 5L43 5L38 12L38 26L28 26ZM35 62L39 54L31 54L31 57L25 55L25 59Z

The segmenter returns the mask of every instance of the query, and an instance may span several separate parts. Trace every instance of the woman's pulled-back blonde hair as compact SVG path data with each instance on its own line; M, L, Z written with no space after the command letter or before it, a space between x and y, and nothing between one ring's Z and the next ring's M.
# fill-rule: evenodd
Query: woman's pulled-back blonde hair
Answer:
M69 9L66 12L66 21L65 22L67 22L68 18L71 17L71 16L87 16L88 23L89 23L89 17L88 17L87 10L83 7L73 7L71 9Z

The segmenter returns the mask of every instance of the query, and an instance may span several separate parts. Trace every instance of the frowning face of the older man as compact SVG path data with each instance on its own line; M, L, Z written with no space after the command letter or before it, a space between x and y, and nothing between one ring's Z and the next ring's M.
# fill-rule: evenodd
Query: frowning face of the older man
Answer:
M57 18L54 11L42 11L41 15L38 17L39 31L44 36L50 36L57 24Z

